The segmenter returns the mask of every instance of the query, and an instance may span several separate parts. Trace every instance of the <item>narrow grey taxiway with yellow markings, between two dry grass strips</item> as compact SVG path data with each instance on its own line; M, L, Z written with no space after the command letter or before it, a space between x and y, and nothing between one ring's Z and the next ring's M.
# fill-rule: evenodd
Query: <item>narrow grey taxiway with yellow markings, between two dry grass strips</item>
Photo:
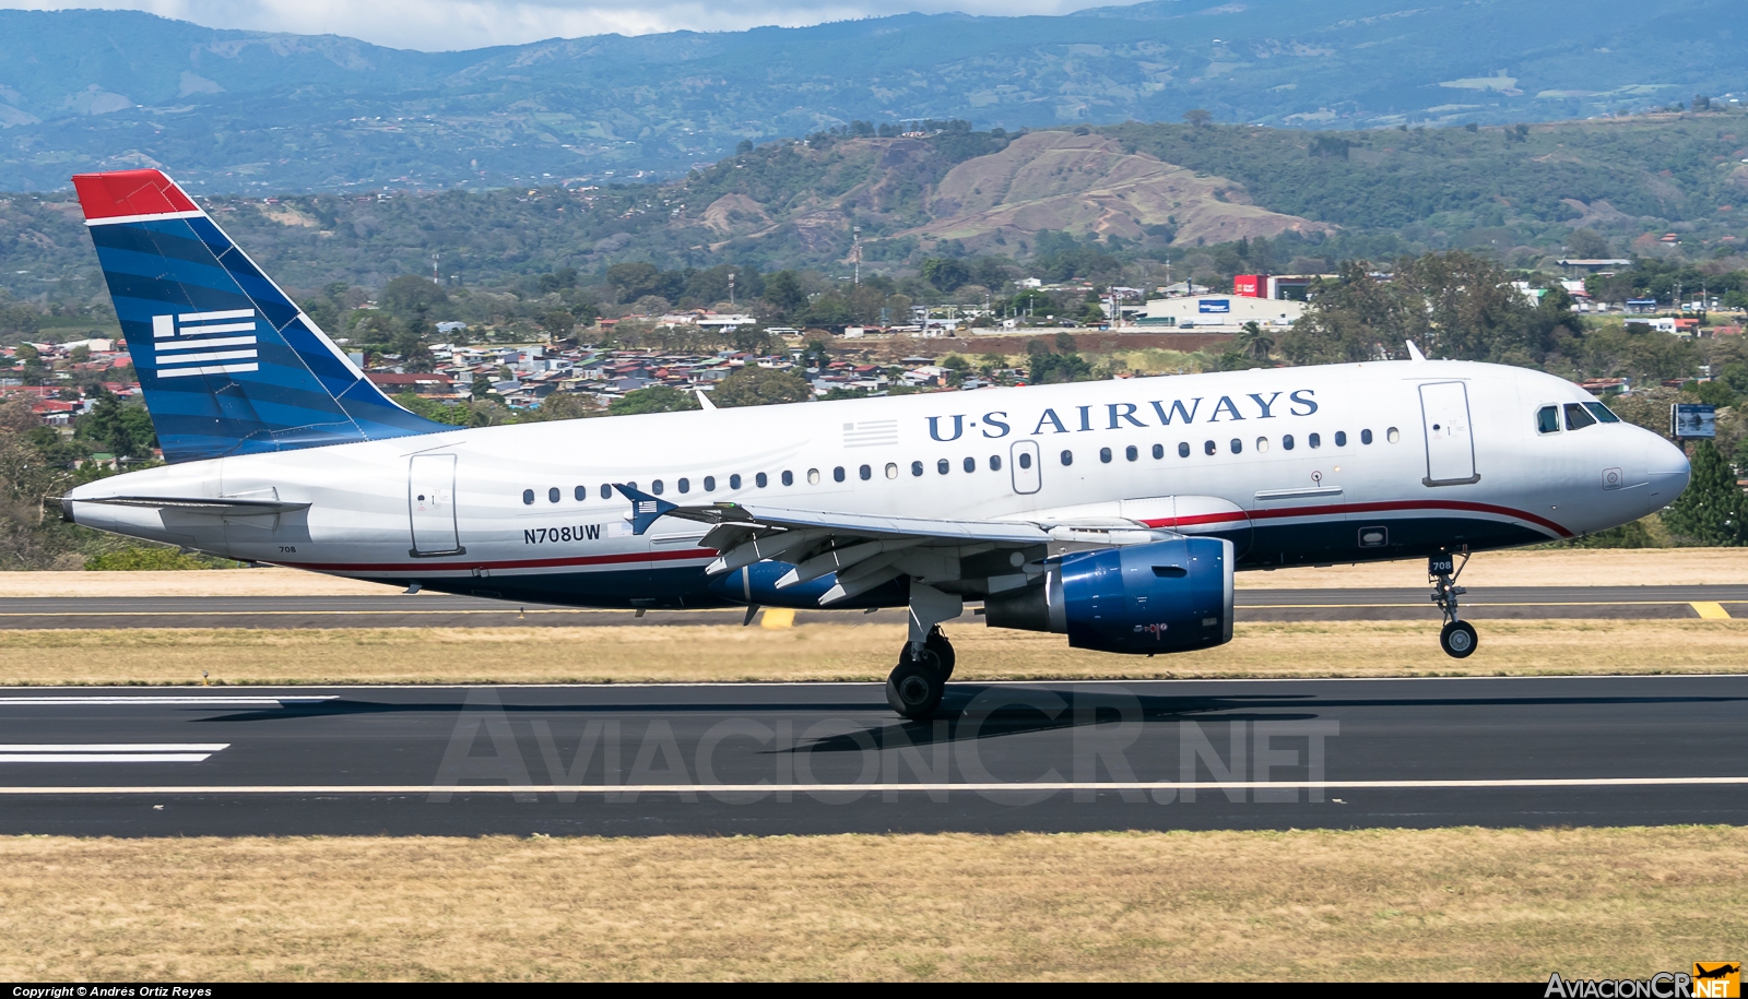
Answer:
M1463 597L1463 617L1699 618L1748 617L1748 585L1718 587L1495 587ZM598 611L514 604L446 594L362 597L5 597L0 629L110 627L580 627L741 624L745 611ZM904 611L799 611L795 624L891 622ZM1239 622L1439 620L1425 589L1238 590Z

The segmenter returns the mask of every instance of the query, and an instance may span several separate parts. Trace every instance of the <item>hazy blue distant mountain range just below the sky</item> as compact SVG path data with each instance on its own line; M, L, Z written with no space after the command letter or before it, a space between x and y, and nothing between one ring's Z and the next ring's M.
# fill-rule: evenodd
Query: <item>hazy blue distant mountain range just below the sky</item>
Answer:
M128 10L0 10L0 189L126 166L208 194L600 183L680 176L743 141L923 119L1017 131L1192 108L1321 129L1591 117L1727 101L1748 70L1739 23L1739 0L1154 0L416 52ZM963 208L991 211L972 189Z

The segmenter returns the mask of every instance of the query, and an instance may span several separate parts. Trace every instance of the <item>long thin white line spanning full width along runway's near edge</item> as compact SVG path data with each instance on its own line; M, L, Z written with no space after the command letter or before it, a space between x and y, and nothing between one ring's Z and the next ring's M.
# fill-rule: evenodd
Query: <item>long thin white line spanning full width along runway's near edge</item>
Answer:
M1472 789L1748 786L1748 777L1526 777L1503 781L1052 781L1037 784L159 784L0 788L0 795L745 795L830 791L1236 791L1236 789Z

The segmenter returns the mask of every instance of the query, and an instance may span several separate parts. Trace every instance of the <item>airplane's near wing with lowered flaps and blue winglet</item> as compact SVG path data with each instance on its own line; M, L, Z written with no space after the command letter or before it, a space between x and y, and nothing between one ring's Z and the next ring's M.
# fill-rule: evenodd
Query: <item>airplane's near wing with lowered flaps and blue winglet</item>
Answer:
M837 573L837 585L820 597L820 604L850 599L905 575L949 592L1002 592L1028 585L1044 573L1051 555L1066 550L1173 536L1134 522L956 520L757 503L682 506L628 486L615 489L631 500L629 520L636 534L661 517L711 524L699 540L701 547L718 552L706 569L710 575L781 561L794 566L776 583L787 589Z

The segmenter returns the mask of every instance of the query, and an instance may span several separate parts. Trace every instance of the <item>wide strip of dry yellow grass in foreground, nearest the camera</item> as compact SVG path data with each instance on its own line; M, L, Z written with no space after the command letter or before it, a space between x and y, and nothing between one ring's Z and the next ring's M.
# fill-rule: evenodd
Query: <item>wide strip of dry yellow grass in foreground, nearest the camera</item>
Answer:
M1739 959L1748 830L0 838L0 978L1545 980Z

